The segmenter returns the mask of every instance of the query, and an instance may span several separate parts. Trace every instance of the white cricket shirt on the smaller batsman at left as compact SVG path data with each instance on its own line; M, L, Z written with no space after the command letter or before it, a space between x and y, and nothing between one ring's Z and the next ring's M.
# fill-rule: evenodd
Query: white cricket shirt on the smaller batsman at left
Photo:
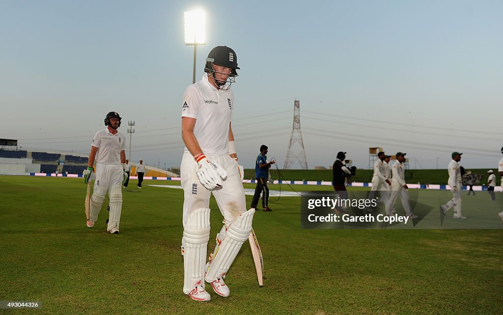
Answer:
M126 149L126 138L120 132L111 134L107 128L95 134L91 145L98 148L96 163L121 164L121 151Z

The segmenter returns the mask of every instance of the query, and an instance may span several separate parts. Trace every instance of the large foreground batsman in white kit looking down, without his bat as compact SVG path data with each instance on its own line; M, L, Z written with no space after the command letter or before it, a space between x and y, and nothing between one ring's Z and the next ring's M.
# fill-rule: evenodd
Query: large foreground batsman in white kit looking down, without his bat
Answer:
M182 255L184 293L209 301L205 281L220 296L229 296L224 278L241 245L248 239L255 209L246 210L243 168L237 163L231 119L237 58L227 46L213 48L201 81L189 86L182 106L181 182L184 189ZM206 263L210 239L210 195L222 213L223 227Z

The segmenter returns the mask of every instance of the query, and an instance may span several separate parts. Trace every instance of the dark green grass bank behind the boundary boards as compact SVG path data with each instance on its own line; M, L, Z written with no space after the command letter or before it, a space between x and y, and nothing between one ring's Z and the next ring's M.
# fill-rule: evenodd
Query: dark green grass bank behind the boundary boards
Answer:
M391 166L391 164L390 164ZM496 169L493 169L495 172ZM488 169L471 170L473 174L482 174L483 178L481 183L487 183ZM356 176L353 176L352 181L369 183L372 181L373 170L358 169ZM412 178L410 174L412 173ZM497 173L497 172L496 172ZM244 170L244 178L255 178L255 170ZM332 170L278 170L273 166L271 167L272 179L284 179L288 181L332 181ZM409 184L426 182L430 184L447 184L449 175L446 169L441 170L408 170L405 172L405 180ZM499 179L498 179L499 183Z

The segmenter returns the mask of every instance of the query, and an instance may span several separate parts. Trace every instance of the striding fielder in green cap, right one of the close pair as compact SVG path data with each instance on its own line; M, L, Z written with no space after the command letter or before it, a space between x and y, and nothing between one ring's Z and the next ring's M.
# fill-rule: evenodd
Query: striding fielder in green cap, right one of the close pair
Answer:
M403 161L405 161L405 155L407 153L397 152L396 162L391 168L391 173L393 178L391 180L391 196L386 203L386 215L393 215L393 206L395 204L396 198L400 195L400 201L402 202L405 214L412 219L417 219L417 215L412 213L409 204L408 186L405 183L405 172L403 169Z

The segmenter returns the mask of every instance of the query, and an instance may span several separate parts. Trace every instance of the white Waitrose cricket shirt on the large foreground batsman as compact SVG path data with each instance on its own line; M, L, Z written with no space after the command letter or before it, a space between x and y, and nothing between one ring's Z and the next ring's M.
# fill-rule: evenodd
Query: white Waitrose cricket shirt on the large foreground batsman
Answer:
M205 154L228 154L229 124L234 93L217 90L205 73L201 81L185 90L182 117L196 119L194 135ZM187 146L185 152L189 152Z

